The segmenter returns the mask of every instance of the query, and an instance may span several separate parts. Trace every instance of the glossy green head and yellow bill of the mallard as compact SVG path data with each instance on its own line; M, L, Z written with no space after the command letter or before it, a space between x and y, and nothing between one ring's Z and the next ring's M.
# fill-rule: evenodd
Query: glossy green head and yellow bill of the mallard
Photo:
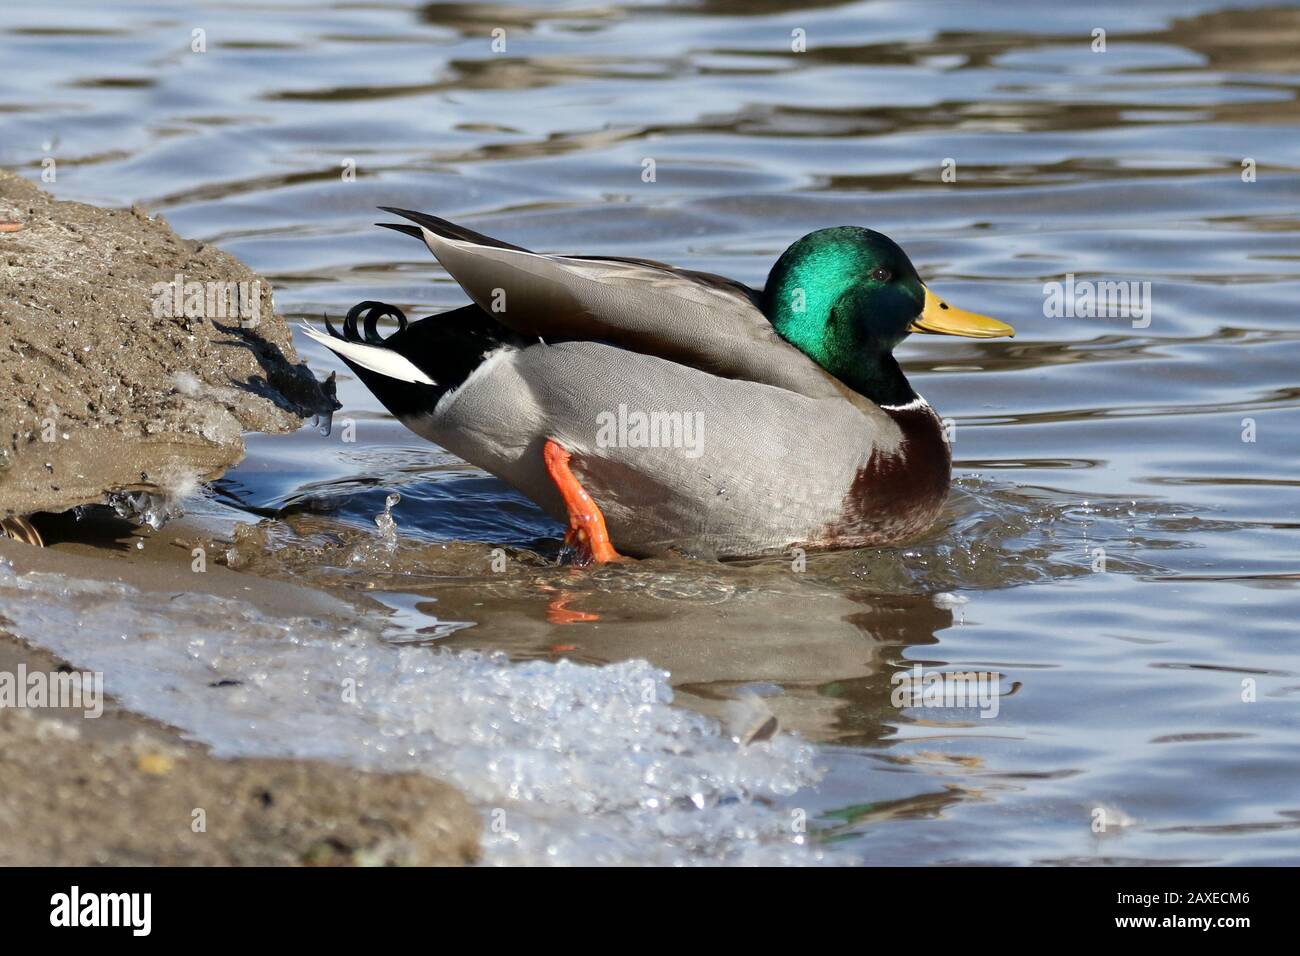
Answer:
M763 312L786 342L878 405L916 397L892 355L909 333L1015 334L949 306L898 243L861 226L819 229L785 250L767 277Z

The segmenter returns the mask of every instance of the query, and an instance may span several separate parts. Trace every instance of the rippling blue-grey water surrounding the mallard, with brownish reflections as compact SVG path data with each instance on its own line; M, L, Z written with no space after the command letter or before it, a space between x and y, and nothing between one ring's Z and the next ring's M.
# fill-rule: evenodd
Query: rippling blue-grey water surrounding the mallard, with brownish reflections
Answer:
M255 437L214 489L207 507L261 520L231 532L231 564L377 596L376 646L403 648L382 653L644 658L677 705L734 719L745 698L818 743L820 779L800 763L763 800L806 810L832 857L1294 864L1297 35L1294 7L1195 0L10 5L0 164L53 157L57 195L144 203L308 320L463 300L370 225L378 204L754 285L811 229L890 234L1018 330L900 349L957 425L923 538L798 574L573 575L541 512L341 373L329 438ZM1149 282L1149 325L1046 317L1067 273ZM997 717L894 706L916 663L996 671Z

